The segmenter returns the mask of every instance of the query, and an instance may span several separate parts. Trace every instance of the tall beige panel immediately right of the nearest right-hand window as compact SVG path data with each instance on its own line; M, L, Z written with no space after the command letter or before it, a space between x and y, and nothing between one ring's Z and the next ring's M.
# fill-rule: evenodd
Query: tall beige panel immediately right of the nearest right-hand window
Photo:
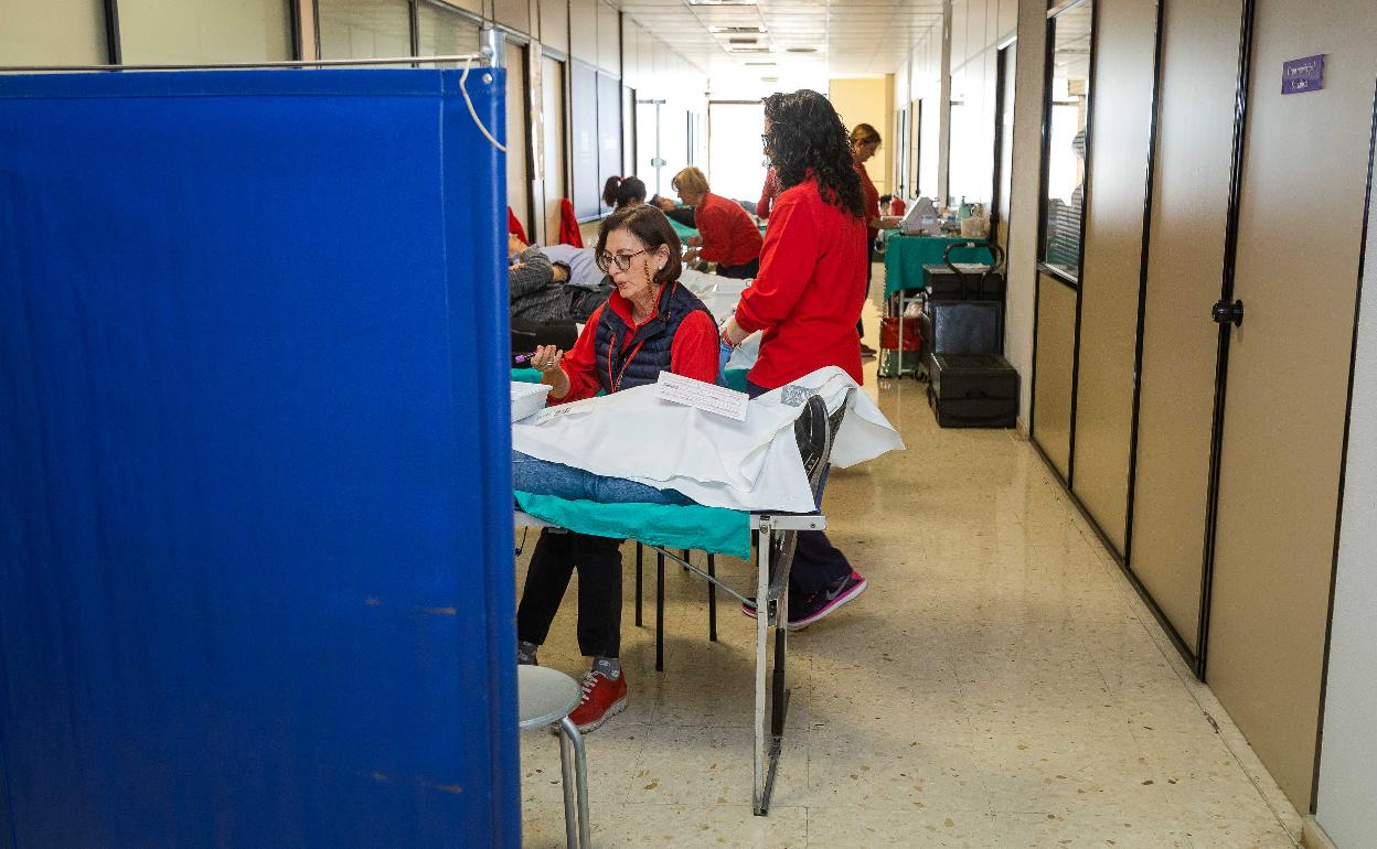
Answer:
M1122 556L1157 4L1095 0L1095 111L1071 483Z

